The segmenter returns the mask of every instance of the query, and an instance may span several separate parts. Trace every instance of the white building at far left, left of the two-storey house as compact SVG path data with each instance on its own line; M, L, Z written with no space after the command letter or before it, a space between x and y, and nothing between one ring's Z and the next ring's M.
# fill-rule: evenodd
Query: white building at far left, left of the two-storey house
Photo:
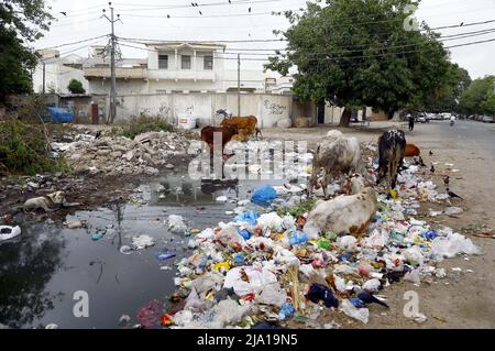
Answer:
M56 50L43 50L38 53L41 58L33 73L34 92L43 92L43 70L45 92L69 94L67 86L72 79L82 83L82 87L88 92L89 83L82 70L85 58L75 54L61 57L61 53Z

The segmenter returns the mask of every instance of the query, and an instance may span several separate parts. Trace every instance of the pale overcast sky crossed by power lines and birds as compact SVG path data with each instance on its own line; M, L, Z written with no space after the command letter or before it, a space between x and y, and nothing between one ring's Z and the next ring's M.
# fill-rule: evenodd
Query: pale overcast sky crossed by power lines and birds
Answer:
M193 7L185 0L119 0L112 2L116 14L122 23L116 23L116 34L139 40L184 40L184 41L245 41L227 43L232 51L230 68L235 67L235 54L242 51L244 67L262 67L266 50L283 48L283 42L260 42L274 40L275 29L286 29L288 22L283 17L272 15L273 11L297 10L305 0L195 0ZM110 23L101 18L108 1L102 0L48 0L53 14L58 20L45 37L33 43L36 48L46 48L74 43L110 32ZM251 9L251 12L250 12ZM65 12L64 15L59 12ZM201 12L202 14L200 14ZM109 13L109 12L107 12ZM167 18L169 15L169 19ZM495 39L495 21L482 25L473 22L495 20L495 0L422 0L416 12L419 20L431 28L459 25L463 28L438 30L443 36L474 33L472 36L447 40L446 46L454 46ZM492 32L480 33L483 30ZM251 42L250 42L251 41ZM253 42L257 41L257 42ZM106 39L62 46L62 54L76 53L88 56L88 45L105 44ZM121 46L124 57L146 57L147 53L139 44L127 42ZM130 47L134 46L134 47ZM451 48L452 61L466 68L474 78L495 75L495 41L471 46Z

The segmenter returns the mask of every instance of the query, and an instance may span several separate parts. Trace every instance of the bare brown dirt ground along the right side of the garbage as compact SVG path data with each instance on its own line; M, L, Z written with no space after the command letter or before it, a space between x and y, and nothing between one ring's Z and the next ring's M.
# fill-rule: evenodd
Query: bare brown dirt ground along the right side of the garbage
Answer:
M388 125L392 124L388 123ZM386 128L386 124L375 128L372 124L371 129L341 129L341 131L363 142L376 142ZM493 125L486 128L494 129ZM330 129L334 128L272 129L264 130L263 134L266 139L306 140L308 147L314 149ZM404 125L403 129L407 130L407 127ZM493 216L495 156L491 151L481 147L476 140L447 139L442 133L437 133L437 130L438 128L430 128L429 124L417 125L415 132L406 133L407 142L420 147L426 164L452 163L454 168L460 169L455 177L451 176L451 189L462 194L464 200L455 201L453 205L462 207L465 211L459 218L437 217L428 221L435 221L436 226L451 227L457 231L469 226L485 224L495 228ZM433 155L430 156L429 151L432 151ZM433 182L443 187L441 174L441 171L436 172ZM435 207L431 206L431 208ZM391 308L387 310L381 306L370 307L367 325L354 322L349 318L333 318L331 315L328 315L328 320L334 319L343 328L495 328L495 273L493 270L495 240L477 238L470 233L466 233L466 237L482 249L483 254L443 261L439 266L446 267L447 278L435 279L431 284L421 283L419 287L409 282L393 284L383 293ZM461 267L462 272L454 272L452 267ZM404 316L403 310L408 301L404 299L404 293L408 290L418 294L419 311L428 317L427 321L417 323Z

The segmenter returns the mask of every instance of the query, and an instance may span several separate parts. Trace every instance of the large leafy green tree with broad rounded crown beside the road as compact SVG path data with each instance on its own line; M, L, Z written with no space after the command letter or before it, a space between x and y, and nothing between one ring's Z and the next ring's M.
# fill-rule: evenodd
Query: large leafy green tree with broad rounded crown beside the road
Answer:
M294 91L301 99L345 107L370 106L389 118L400 108L437 96L450 66L448 52L426 23L408 30L411 0L327 0L285 12L287 51L266 69L287 75L297 67Z

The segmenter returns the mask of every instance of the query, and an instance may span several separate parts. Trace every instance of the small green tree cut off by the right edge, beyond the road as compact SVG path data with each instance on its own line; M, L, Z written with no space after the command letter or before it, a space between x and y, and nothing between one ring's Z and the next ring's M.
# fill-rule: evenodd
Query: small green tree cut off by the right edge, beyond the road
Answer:
M468 114L492 113L495 76L475 79L462 94L459 107Z

